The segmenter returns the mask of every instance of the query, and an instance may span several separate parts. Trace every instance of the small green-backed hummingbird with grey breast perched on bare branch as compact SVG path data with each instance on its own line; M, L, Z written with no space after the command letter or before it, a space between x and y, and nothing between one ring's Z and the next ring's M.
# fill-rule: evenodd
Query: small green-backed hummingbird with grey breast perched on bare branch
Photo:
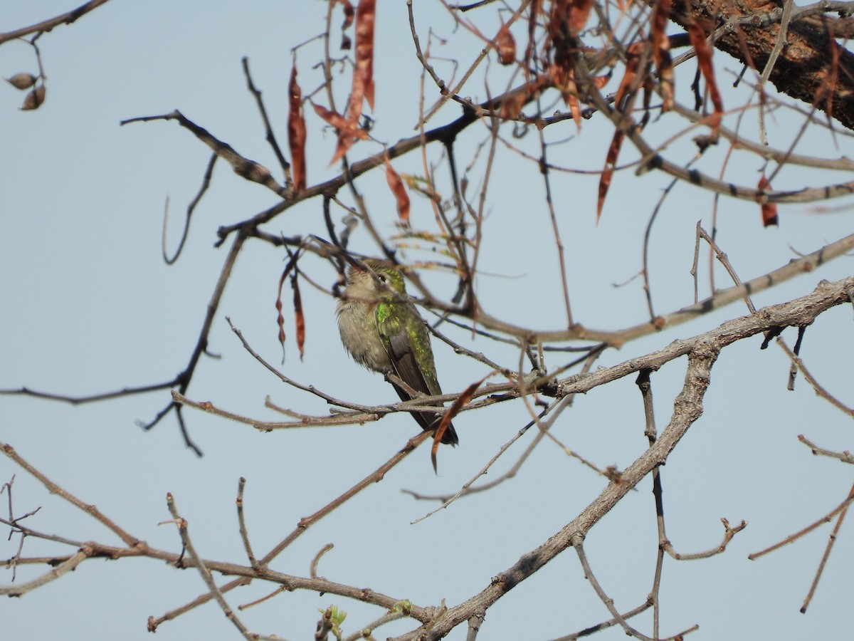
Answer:
M341 342L355 362L377 373L393 373L413 391L427 396L442 394L430 332L407 298L406 283L399 270L373 259L352 262L336 312ZM416 397L394 381L389 382L401 401ZM410 414L424 430L434 430L442 422L442 415L431 412ZM442 435L442 443L459 443L452 424Z

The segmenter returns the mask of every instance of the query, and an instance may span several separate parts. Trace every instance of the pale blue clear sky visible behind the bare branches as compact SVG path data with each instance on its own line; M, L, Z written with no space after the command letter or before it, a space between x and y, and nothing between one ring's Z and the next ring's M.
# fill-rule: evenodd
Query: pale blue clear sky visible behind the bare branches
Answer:
M422 44L432 26L449 38L444 47L434 44L434 54L457 58L461 68L467 68L482 44L454 34L452 21L436 3L417 4ZM0 31L70 8L54 0L5 3ZM212 188L194 215L184 255L167 268L160 250L164 200L171 197L168 242L174 247L184 204L198 189L208 150L173 122L123 127L119 122L180 109L278 177L254 100L245 89L240 60L249 56L255 83L264 91L273 126L284 144L290 50L323 30L323 15L321 3L114 0L73 26L58 27L40 39L48 76L44 106L20 112L17 107L23 94L9 85L0 87L0 147L5 157L5 169L0 172L4 221L0 388L27 385L86 395L160 382L184 368L225 259L224 249L213 249L216 228L272 206L277 197L263 187L248 185L218 163ZM379 3L377 15L373 113L377 126L372 134L393 144L412 135L417 121L419 67L405 3ZM494 20L495 11L489 9L488 15ZM730 74L739 69L735 62L719 57L722 85L728 85ZM304 93L321 81L319 72L311 68L318 61L318 44L299 53ZM3 77L34 67L25 45L0 47ZM493 61L490 73L496 73L494 68ZM437 63L440 74L450 74L450 69ZM693 67L685 72L687 82L691 75ZM506 82L495 78L489 87L493 95ZM348 78L342 76L337 82L342 104ZM683 92L679 94L683 102L692 102L687 86L677 83L677 91ZM463 93L476 100L485 98L482 77L476 74ZM743 94L739 95L743 101ZM729 99L727 94L725 100ZM732 100L727 106L738 104L737 98ZM319 96L318 102L325 104L325 98ZM430 125L441 125L457 115L459 109L447 105ZM755 127L747 122L750 118L745 126ZM668 121L676 126L676 117L666 115L649 136L657 140L672 132ZM772 118L771 144L785 148L799 125L791 115ZM550 148L552 162L600 168L611 126L594 117L580 133L569 122L561 127L547 130L550 139L573 139ZM509 128L506 133L509 136ZM672 159L686 162L691 157L691 135L685 137L687 143L670 146ZM487 132L478 126L460 138L462 165L470 161L472 145L485 139ZM308 140L308 183L312 185L335 175L335 168L326 168L335 141L330 132L320 131L319 121L311 114ZM519 144L535 149L535 137ZM377 144L357 145L351 160L379 149ZM705 159L705 170L717 175L725 151L713 150ZM854 154L850 138L840 136L839 150L834 150L830 138L817 132L798 151L828 157ZM631 157L627 147L624 160ZM494 315L529 326L559 327L565 316L541 177L535 165L520 163L504 150L500 158L488 193L479 296ZM758 162L739 162L730 167L727 178L756 185ZM420 173L421 159L410 154L396 161L395 168ZM444 179L444 174L440 176ZM470 189L474 190L477 173L472 176ZM838 178L787 169L775 187L786 187L787 180L817 186L834 179ZM617 173L599 226L595 225L596 176L554 173L553 181L576 321L603 329L645 321L640 283L621 289L610 284L623 282L640 269L642 233L669 179L656 173L638 179L631 169ZM393 234L394 200L383 173L368 175L358 185L380 232ZM443 188L447 190L447 180ZM348 195L342 191L342 197ZM711 203L707 193L680 185L658 217L652 235L652 291L658 313L692 302L688 270L693 229L700 219L710 226ZM336 220L340 218L339 212ZM427 203L413 196L413 225L430 228L431 219ZM806 253L851 232L851 213L819 217L810 214L810 206L782 208L780 228L763 229L757 205L723 199L718 228L722 248L740 276L749 279L792 258L790 245ZM266 230L287 235L322 233L320 202L288 211ZM355 232L353 247L375 251L363 230ZM275 417L263 408L267 395L275 403L307 413L327 411L325 403L285 387L260 368L225 323L225 315L231 316L254 349L272 362L279 361L273 303L283 258L282 252L258 242L246 245L210 336L210 351L222 358L202 360L188 396L266 420ZM309 265L315 278L331 284L331 268L320 262L303 268ZM781 302L811 291L819 279L834 280L850 273L851 260L842 258L763 292L754 302L757 306ZM453 293L455 282L450 276L430 274L428 280L439 295ZM720 271L717 284L729 285ZM700 295L705 296L707 278L701 279L700 287ZM305 361L297 356L289 311L284 371L337 397L363 403L395 400L381 377L351 362L342 350L334 322L335 301L307 285L302 293L307 320ZM621 362L743 314L743 305L732 305L623 350L608 351L598 364ZM513 350L483 338L472 341L467 332L447 327L445 331L510 367L518 362ZM810 368L848 403L852 402L854 357L850 332L851 307L840 307L823 315L804 343ZM793 344L795 332L787 330L785 335ZM803 379L798 379L796 391L787 393L786 357L774 346L760 352L760 342L754 338L724 351L712 372L705 414L663 471L668 532L678 550L693 552L717 545L722 517L732 523L750 521L722 556L665 563L663 634L694 623L700 626L692 637L696 639L841 638L847 631L848 570L854 560L851 524L843 528L807 615L800 615L798 608L822 555L827 527L774 555L746 560L747 554L833 509L851 482L849 469L811 456L796 439L804 433L825 447L850 449L850 419L817 399ZM483 365L454 356L441 344L436 345L436 362L445 391L460 391L487 373ZM559 362L557 357L549 364ZM653 377L659 429L669 419L684 368L684 361L673 362ZM151 432L135 426L135 420L151 420L167 401L167 391L77 408L0 397L0 440L136 536L155 547L178 550L175 528L157 526L169 518L165 496L171 491L190 522L190 535L202 556L243 562L234 509L240 476L248 479L249 532L262 556L302 516L377 468L417 431L408 416L396 415L366 426L264 434L188 410L190 434L205 453L198 459L184 448L173 416ZM319 567L319 574L328 579L370 586L421 606L438 605L442 598L454 605L471 597L492 576L572 520L598 495L603 479L544 442L515 479L459 501L417 525L410 521L432 504L414 502L401 489L456 491L526 420L522 403L503 403L459 416L454 422L460 446L442 450L438 477L430 467L429 451L418 450L382 483L313 526L278 558L273 569L307 575L313 556L331 542L336 547ZM577 398L575 408L559 420L555 434L601 467L627 467L646 448L634 377ZM506 470L532 437L529 433L517 444L487 479ZM16 511L42 506L28 520L32 528L118 543L94 521L48 496L26 472L0 459L0 482L12 474L17 474ZM642 603L652 582L656 531L650 482L639 490L595 526L587 540L597 577L623 611ZM13 538L2 545L0 557L12 556L16 549L17 538ZM67 551L29 540L25 546L29 555ZM43 570L20 568L18 580ZM0 582L9 579L4 572ZM256 582L228 597L236 607L270 590ZM149 615L160 616L204 591L195 571L178 571L150 560L91 561L26 597L0 600L0 619L9 638L142 639L149 638L145 631ZM243 620L254 632L309 638L317 610L330 603L350 613L345 623L348 632L382 614L334 595L296 592L249 609ZM568 550L490 609L480 638L556 638L607 618L583 579L575 553ZM635 626L648 632L649 620L643 615ZM377 638L412 627L409 622L384 627ZM448 638L465 638L464 627ZM599 638L623 637L615 629ZM211 603L163 624L157 638L238 635Z

